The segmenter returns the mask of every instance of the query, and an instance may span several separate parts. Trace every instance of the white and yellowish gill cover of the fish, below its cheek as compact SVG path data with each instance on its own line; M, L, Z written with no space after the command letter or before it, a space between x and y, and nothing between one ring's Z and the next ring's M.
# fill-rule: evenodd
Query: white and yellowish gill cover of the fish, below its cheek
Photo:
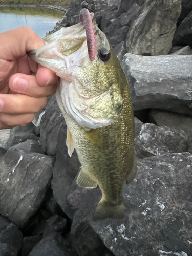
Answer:
M115 101L112 99L112 94L116 94ZM86 98L77 92L73 81L64 79L60 80L56 96L61 111L65 110L79 126L89 129L101 128L118 122L123 105L122 97L115 93L113 88L98 96Z

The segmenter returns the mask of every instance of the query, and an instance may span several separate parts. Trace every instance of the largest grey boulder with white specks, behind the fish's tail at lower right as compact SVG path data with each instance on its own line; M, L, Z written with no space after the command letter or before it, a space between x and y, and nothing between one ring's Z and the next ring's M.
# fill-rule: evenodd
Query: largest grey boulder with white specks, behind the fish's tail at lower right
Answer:
M123 187L125 216L122 220L92 221L90 215L101 198L98 188L86 190L74 182L68 200L88 216L92 228L115 256L159 256L159 250L182 251L189 256L192 253L191 162L189 153L164 154L138 161L136 178Z

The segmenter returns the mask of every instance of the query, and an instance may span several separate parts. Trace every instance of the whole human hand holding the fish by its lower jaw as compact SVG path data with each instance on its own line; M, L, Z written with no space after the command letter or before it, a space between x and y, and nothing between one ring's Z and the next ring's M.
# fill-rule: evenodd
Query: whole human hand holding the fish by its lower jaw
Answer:
M27 26L0 33L0 129L27 125L55 93L56 74L26 55L43 45Z

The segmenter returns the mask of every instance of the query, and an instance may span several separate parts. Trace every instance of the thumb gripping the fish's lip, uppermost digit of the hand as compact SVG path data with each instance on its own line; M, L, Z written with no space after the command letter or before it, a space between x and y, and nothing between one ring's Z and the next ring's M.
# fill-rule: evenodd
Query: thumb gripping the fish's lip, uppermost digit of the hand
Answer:
M24 57L26 52L44 45L45 41L27 26L0 33L0 53L5 60Z

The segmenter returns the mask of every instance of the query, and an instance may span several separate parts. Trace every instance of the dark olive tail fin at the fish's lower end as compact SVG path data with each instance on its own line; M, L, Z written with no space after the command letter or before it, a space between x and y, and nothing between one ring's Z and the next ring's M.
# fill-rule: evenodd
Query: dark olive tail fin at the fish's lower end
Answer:
M112 204L109 202L99 202L94 215L93 220L104 220L106 218L122 219L124 217L123 204Z

